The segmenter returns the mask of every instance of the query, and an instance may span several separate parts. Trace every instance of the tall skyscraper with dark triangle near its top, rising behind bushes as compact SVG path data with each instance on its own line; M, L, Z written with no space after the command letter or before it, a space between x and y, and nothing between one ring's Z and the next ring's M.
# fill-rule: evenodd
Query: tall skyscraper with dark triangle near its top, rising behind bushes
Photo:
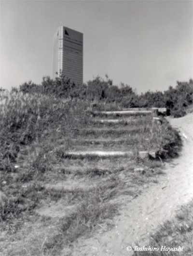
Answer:
M75 83L83 83L83 33L64 26L54 35L53 79L60 72Z

